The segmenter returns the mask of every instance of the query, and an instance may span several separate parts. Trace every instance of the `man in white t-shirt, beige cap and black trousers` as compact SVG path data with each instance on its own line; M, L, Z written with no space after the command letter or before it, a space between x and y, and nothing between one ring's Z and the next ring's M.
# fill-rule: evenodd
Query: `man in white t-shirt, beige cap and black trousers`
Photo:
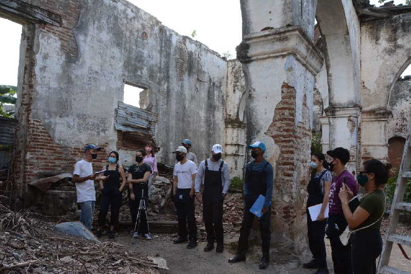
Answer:
M197 175L197 165L187 160L185 147L180 146L173 153L176 154L178 161L174 167L173 184L178 219L178 238L174 240L174 243L185 243L188 237L190 242L187 248L194 248L197 246L197 225L194 215L194 181Z

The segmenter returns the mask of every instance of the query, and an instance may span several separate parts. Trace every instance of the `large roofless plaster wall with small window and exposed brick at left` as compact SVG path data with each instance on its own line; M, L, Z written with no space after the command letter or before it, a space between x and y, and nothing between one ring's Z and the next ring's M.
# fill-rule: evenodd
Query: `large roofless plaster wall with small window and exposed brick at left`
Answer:
M198 160L225 143L227 62L216 52L127 1L25 2L60 15L62 25L23 29L17 185L51 170L72 171L86 143L118 150L121 163L132 162L134 151L117 147L114 128L124 82L148 87L143 105L159 115L159 161L173 164L171 152L184 138L193 141Z

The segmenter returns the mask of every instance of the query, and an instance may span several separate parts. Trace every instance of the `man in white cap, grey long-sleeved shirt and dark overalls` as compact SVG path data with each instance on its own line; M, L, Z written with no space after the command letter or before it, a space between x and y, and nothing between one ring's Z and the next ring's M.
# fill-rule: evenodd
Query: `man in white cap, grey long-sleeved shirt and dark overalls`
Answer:
M228 164L221 160L221 145L214 145L211 154L211 158L202 161L198 166L195 190L197 200L200 202L200 186L201 183L204 184L202 208L204 225L207 232L207 246L204 247L204 251L213 250L214 242L217 240L215 251L221 253L224 248L222 204L230 188L231 181Z

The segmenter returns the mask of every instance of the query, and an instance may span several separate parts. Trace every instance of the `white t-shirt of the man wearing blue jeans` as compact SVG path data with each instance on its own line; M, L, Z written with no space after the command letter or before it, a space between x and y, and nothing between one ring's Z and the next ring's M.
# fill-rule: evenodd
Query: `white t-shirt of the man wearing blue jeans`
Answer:
M73 175L79 175L79 177L87 177L93 174L93 167L90 162L80 160L74 165ZM77 189L77 202L82 203L85 201L96 201L96 190L94 188L94 181L87 180L82 183L76 183Z

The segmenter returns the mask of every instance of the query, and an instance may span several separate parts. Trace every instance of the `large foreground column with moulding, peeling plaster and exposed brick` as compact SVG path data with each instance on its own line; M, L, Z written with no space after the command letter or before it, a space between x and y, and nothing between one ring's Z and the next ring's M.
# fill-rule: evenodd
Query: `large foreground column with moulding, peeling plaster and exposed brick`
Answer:
M316 1L241 1L243 40L237 58L248 91L247 142L264 142L265 158L274 167L271 244L283 254L301 255L307 248L305 177L314 76L323 62L312 44L315 7ZM258 237L254 230L250 245L257 256Z

